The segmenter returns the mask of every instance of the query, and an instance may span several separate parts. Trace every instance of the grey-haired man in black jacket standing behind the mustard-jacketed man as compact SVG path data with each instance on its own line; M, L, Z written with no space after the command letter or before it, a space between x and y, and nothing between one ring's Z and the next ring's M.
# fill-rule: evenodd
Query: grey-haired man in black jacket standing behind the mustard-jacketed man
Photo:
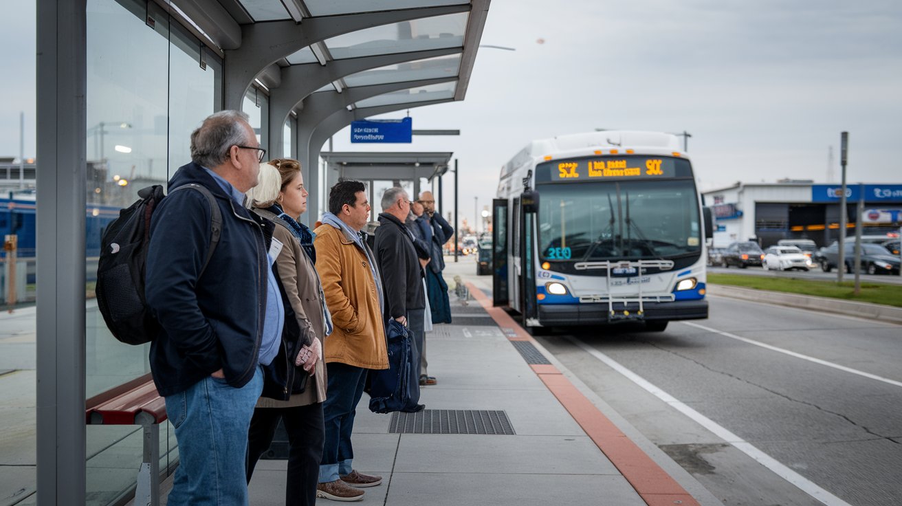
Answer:
M419 404L419 350L423 347L426 294L423 290L423 264L414 247L414 236L404 220L410 213L407 192L398 187L385 190L382 213L376 228L376 262L382 274L385 293L385 317L410 329L413 337L410 368L410 411L425 408ZM419 405L418 405L419 404Z

